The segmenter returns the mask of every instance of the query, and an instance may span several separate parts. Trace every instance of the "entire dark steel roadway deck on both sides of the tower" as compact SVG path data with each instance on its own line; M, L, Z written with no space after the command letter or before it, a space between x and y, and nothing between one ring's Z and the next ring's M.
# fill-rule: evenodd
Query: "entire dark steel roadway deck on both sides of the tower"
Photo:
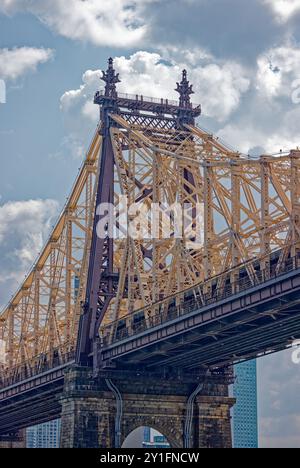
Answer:
M129 335L103 347L104 373L179 368L192 374L283 350L300 338L300 268ZM58 418L72 364L0 388L0 435Z

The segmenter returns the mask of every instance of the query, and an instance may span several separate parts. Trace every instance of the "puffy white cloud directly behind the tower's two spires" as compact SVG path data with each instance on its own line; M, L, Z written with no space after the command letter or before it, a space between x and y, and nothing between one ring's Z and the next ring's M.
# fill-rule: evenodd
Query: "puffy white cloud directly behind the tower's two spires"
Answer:
M165 54L139 51L129 58L117 57L115 68L122 80L118 90L134 95L178 99L174 89L186 67L194 84L194 101L202 103L206 116L219 121L225 121L238 108L250 86L247 71L238 63L218 61L200 49L184 51L172 48L166 49ZM95 91L103 86L101 75L100 70L88 70L82 77L83 84L62 96L61 109L73 116L77 112L78 118L81 114L81 117L96 122L99 111L92 101Z

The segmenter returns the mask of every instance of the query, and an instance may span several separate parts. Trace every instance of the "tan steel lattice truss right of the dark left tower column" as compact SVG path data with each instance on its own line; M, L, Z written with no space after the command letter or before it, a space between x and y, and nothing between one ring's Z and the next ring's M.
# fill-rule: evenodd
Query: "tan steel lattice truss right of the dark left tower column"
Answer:
M282 250L278 269L280 262L295 256L300 232L299 151L253 160L233 153L197 127L149 132L147 125L132 125L117 115L112 119L118 124L111 130L116 204L120 193L129 204L142 201L149 207L176 201L198 204L203 241L193 247L189 238L175 239L174 225L171 237L164 239L161 220L159 238L116 242L114 265L120 279L104 326L138 310L147 320L156 313L153 304L164 298L171 301L178 292L230 269L234 284L239 275L235 267L240 265L247 265L254 281L256 271L249 261L255 258L261 259L267 277L268 255L275 250ZM146 216L147 210L147 224L151 220ZM191 216L190 223L194 222ZM176 295L177 302L182 298Z

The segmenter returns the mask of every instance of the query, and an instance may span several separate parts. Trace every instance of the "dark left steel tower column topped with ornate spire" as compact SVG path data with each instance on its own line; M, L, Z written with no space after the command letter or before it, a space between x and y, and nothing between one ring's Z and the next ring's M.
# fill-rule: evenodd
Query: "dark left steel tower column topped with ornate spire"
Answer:
M114 151L110 130L112 122L110 113L117 113L116 99L118 97L116 84L120 82L119 75L113 68L113 60L109 59L107 72L103 72L105 81L105 96L103 101L95 96L95 104L101 105L101 135L103 137L102 153L100 157L99 182L96 197L96 211L93 225L92 245L89 259L89 271L86 289L84 313L79 324L76 361L81 365L93 365L97 374L100 367L100 337L99 328L115 296L114 287L114 240L111 235L112 226L107 226L105 238L99 238L97 224L99 221L98 208L114 204Z

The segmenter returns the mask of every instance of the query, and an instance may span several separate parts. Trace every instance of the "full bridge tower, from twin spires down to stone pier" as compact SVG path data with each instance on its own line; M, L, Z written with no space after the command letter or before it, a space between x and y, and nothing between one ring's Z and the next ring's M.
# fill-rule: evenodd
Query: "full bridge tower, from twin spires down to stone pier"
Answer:
M151 323L153 304L203 276L196 249L188 246L195 234L175 239L173 225L164 236L160 220L151 236L142 236L138 226L131 237L130 215L124 222L128 206L142 210L178 201L189 204L189 225L196 225L203 184L194 170L189 126L201 108L191 102L186 70L177 83L179 104L118 94L112 59L102 80L105 90L94 100L102 139L96 213L76 366L65 376L61 397L62 446L121 447L131 431L149 426L173 447L231 447L230 372L211 374L201 365L192 374L170 368L151 372L142 364L122 368L102 362L103 343L120 333L120 320L128 325L138 312L131 328L139 320Z

